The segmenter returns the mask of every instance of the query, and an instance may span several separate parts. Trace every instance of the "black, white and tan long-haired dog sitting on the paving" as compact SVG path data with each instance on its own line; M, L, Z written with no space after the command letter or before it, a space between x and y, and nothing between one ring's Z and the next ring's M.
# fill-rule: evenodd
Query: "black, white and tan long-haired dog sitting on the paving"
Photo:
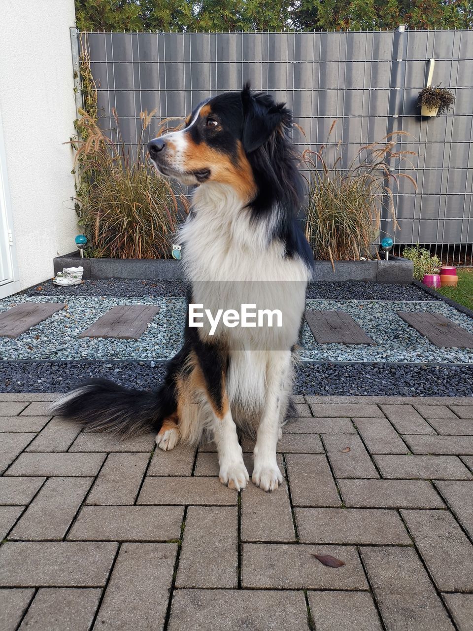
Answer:
M184 345L154 392L87 382L54 413L122 438L156 433L160 449L216 443L219 479L237 491L247 468L237 427L255 437L252 481L283 478L277 441L288 414L313 254L296 215L304 182L285 103L243 86L200 103L185 126L148 144L160 174L198 185L180 230L189 305L283 305L284 326L185 325ZM252 305L254 306L254 304Z

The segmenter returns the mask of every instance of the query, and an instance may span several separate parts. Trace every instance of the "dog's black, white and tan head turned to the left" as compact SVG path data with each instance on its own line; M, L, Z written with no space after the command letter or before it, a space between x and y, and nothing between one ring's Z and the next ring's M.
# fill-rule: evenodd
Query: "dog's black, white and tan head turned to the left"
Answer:
M228 184L249 201L256 190L250 155L290 124L283 103L245 85L197 105L184 129L148 143L149 156L158 171L183 184Z

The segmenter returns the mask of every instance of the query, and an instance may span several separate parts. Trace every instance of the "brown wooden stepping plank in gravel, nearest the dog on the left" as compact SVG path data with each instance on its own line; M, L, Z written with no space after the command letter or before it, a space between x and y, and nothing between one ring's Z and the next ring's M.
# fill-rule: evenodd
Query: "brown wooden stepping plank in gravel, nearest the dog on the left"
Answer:
M159 310L159 307L150 305L112 307L79 338L138 339Z

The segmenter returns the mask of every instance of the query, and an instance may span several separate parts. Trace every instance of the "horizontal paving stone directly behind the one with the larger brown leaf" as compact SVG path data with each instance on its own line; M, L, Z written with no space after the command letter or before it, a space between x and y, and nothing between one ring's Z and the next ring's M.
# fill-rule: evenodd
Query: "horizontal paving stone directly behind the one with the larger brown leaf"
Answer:
M303 543L411 544L395 510L296 508L295 514Z

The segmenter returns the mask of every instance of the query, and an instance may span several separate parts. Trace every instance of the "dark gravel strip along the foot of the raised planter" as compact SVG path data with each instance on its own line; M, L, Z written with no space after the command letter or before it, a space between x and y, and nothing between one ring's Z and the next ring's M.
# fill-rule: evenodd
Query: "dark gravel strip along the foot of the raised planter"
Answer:
M59 287L47 280L26 289L26 296L185 296L182 280L86 280L81 285ZM380 285L364 281L311 283L308 298L322 300L441 300L415 285Z

